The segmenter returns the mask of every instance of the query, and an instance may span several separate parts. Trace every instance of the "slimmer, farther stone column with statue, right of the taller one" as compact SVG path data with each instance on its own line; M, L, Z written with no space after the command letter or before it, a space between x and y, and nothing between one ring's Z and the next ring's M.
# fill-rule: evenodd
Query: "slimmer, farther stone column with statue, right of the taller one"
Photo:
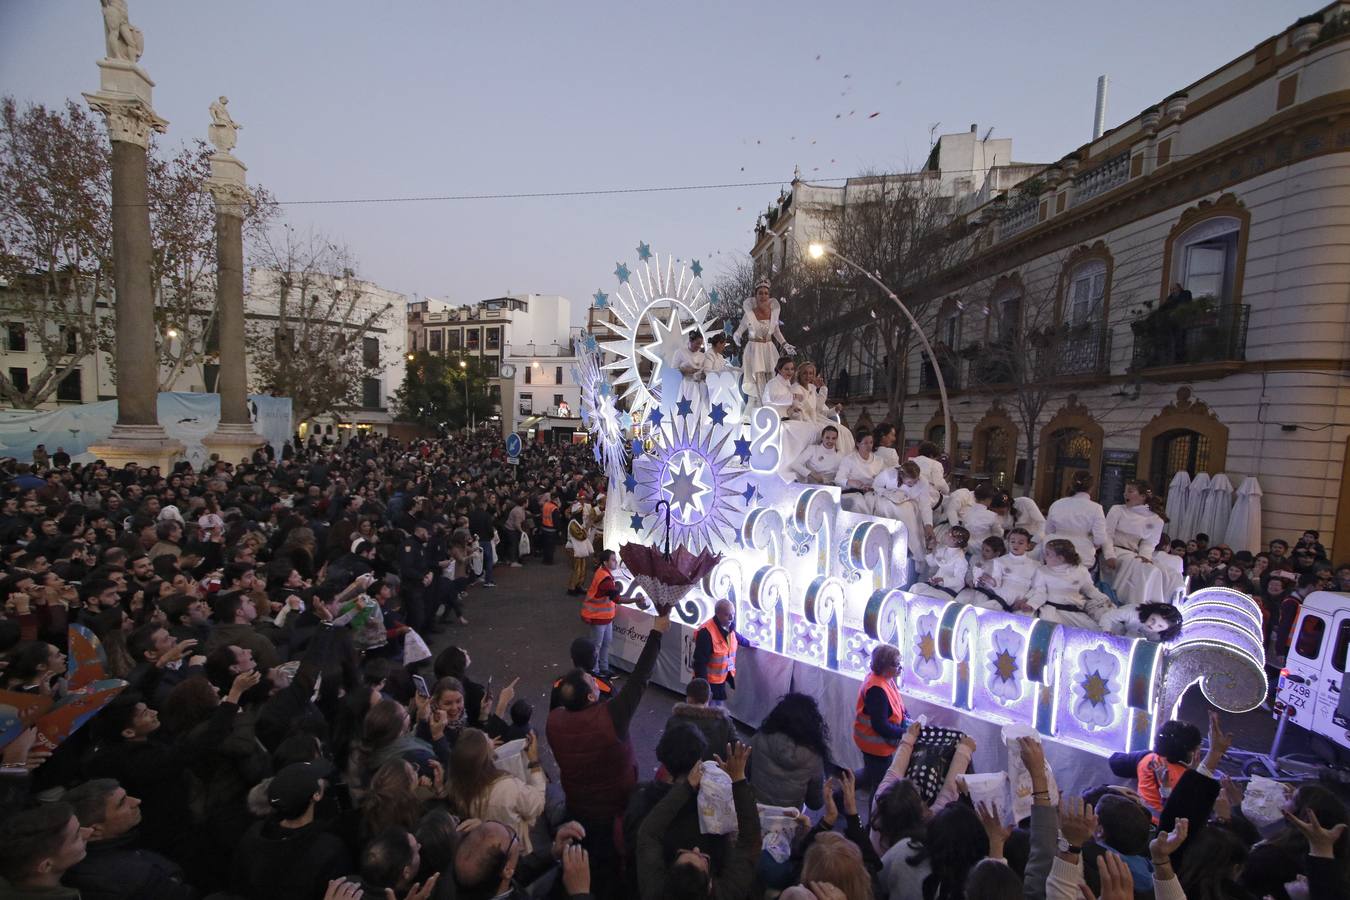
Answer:
M244 240L243 220L250 201L244 165L230 151L240 127L225 112L228 100L211 104L211 154L207 189L216 202L216 324L220 335L220 424L202 439L208 451L227 463L247 459L262 445L248 416L248 358L244 349Z

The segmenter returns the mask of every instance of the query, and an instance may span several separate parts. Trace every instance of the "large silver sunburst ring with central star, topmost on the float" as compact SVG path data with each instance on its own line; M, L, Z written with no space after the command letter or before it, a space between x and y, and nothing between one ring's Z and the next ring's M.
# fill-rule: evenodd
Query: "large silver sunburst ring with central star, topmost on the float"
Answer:
M641 421L660 405L662 370L684 347L686 336L693 331L706 336L711 305L697 259L686 266L667 256L663 263L647 243L637 244L637 259L632 270L628 263L617 263L618 287L613 297L597 291L595 301L613 309L618 320L605 322L617 340L601 343L614 356L603 368L614 372L616 402L628 401L628 409Z

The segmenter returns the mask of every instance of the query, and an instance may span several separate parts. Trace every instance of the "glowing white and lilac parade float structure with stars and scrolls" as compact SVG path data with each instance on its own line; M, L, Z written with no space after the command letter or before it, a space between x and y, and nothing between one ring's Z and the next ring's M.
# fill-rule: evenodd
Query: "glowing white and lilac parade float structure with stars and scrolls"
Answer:
M605 545L664 541L656 507L670 503L672 544L722 555L676 607L679 621L698 626L726 599L760 652L857 679L879 642L894 644L902 694L1099 754L1149 748L1156 725L1196 683L1228 712L1261 703L1261 614L1235 591L1187 598L1181 634L1166 645L907 592L905 526L844 510L837 487L790 480L772 409L742 414L741 399L724 393L693 414L671 358L687 335L709 328L698 263L663 264L647 244L639 256L634 270L617 267L618 324L599 341L613 362L593 370L613 383L583 383L597 397L583 397L582 407L594 410L587 425L597 440L633 453L630 467L609 471ZM625 422L626 443L614 440L612 421Z

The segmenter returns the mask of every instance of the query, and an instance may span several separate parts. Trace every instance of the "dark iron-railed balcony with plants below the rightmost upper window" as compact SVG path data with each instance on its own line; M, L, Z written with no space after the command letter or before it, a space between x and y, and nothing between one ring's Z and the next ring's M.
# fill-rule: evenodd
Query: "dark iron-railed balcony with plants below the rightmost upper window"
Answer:
M1251 308L1192 301L1189 309L1153 313L1130 324L1134 332L1133 371L1174 366L1233 368L1247 358Z

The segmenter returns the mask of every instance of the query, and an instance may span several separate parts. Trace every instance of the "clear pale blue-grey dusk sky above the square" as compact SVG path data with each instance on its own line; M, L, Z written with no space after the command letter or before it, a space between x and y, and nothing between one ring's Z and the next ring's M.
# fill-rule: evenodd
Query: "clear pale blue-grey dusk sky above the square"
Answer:
M787 184L921 165L979 124L1025 162L1118 124L1323 4L128 0L161 140L205 138L282 201L775 182L679 193L286 205L409 297L560 293L576 318L637 242L709 273ZM94 90L97 0L0 0L0 92ZM879 113L873 117L873 113Z

